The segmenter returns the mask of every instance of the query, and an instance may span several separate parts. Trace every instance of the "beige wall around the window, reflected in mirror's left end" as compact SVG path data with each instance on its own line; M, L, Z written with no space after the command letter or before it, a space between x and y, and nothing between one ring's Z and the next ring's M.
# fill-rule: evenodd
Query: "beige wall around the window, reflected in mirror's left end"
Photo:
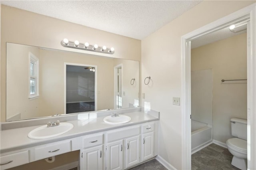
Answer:
M7 74L6 79L6 119L20 114L20 119L39 117L40 98L30 100L29 96L29 53L40 60L40 49L38 47L24 46L8 43ZM14 107L15 106L15 107ZM12 119L9 121L14 121Z

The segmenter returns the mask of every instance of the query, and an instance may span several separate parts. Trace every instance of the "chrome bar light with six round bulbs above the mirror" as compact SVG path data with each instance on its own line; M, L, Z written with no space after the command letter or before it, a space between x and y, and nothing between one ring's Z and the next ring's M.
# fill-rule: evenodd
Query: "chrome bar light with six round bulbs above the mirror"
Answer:
M89 51L95 51L100 53L107 53L107 54L114 54L114 48L113 47L106 47L104 46L98 46L97 44L89 44L86 43L80 43L78 40L76 41L69 41L68 39L64 38L61 42L61 45L63 47L70 47L70 48L77 48L77 49L84 49Z

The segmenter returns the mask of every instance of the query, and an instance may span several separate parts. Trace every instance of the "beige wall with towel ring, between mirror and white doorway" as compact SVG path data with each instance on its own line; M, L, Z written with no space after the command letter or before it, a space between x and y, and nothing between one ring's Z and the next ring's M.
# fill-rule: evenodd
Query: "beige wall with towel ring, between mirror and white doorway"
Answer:
M172 97L181 96L181 36L254 2L203 1L142 40L142 106L147 102L160 111L159 156L177 169L182 169L182 119ZM147 76L152 81L144 85Z

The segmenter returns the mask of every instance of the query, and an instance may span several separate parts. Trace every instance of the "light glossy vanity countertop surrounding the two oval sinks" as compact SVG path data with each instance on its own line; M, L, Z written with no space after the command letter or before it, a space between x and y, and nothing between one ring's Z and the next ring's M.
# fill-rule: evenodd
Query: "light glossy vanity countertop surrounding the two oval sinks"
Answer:
M110 125L103 121L104 117L97 117L94 119L86 119L86 120L76 120L76 121L67 121L68 123L72 123L74 127L59 136L55 136L52 138L46 139L30 139L28 138L28 133L42 125L31 126L31 127L23 127L23 128L14 128L8 130L1 130L0 137L0 153L10 152L13 150L18 150L22 148L28 148L32 146L37 146L40 144L46 144L50 142L56 142L60 140L65 140L68 138L74 138L78 136L83 136L86 134L92 134L97 132L103 132L106 130L113 130L116 128L128 127L131 125L137 125L140 123L146 123L151 121L157 121L158 118L146 114L144 112L133 112L133 113L124 113L122 115L128 115L131 117L131 121L124 124L119 125Z

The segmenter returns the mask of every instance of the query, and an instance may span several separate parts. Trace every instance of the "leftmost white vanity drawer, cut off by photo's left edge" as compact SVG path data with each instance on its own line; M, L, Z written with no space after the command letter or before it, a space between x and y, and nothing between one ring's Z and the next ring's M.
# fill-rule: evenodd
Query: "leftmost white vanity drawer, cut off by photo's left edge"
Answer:
M1 165L0 165L1 170L12 168L14 166L27 164L29 162L28 150L17 152L14 154L4 155L4 156L1 156L0 158L1 158Z

